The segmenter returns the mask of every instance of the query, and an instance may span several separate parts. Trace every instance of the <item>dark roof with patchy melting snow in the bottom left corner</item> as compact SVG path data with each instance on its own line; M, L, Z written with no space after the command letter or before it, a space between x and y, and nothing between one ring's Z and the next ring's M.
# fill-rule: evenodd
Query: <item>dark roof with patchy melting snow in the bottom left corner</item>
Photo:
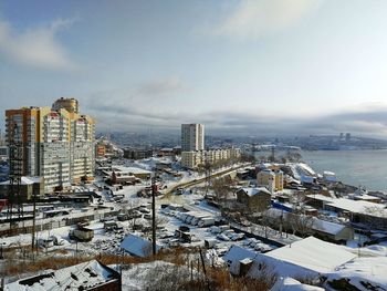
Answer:
M96 260L83 262L56 271L45 271L40 276L22 279L7 284L7 291L43 291L43 290L87 290L100 284L119 279L114 270Z

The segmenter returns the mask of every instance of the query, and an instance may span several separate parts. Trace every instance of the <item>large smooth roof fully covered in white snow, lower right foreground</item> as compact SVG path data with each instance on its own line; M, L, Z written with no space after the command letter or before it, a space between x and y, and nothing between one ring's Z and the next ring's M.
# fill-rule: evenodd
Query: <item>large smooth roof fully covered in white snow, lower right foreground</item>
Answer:
M343 247L314 237L295 241L289 246L269 251L266 257L286 261L318 273L334 271L356 257Z

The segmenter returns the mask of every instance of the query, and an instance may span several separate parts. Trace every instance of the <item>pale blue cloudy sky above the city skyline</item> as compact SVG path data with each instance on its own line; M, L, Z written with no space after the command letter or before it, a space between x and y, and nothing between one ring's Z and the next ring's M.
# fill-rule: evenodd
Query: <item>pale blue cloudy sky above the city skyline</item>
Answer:
M386 15L385 0L0 0L0 110L75 97L100 132L387 138Z

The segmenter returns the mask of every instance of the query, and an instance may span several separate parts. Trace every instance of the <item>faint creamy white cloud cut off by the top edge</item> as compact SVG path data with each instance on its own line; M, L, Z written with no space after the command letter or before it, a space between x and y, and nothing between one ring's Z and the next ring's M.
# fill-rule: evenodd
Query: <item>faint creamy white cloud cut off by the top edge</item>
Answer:
M260 38L299 23L321 4L321 0L241 0L220 23L213 35Z

